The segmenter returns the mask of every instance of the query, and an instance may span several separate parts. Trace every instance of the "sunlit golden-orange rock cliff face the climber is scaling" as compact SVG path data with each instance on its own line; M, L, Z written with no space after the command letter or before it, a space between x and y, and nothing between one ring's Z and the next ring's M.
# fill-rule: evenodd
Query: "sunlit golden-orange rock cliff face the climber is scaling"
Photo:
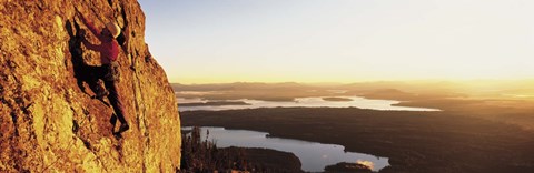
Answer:
M91 99L83 65L99 65L99 54L80 44L77 34L87 28L76 9L97 28L116 21L127 38L118 58L118 91L130 124L122 138L111 133L109 101ZM0 13L0 172L180 166L177 102L145 43L136 0L1 0Z

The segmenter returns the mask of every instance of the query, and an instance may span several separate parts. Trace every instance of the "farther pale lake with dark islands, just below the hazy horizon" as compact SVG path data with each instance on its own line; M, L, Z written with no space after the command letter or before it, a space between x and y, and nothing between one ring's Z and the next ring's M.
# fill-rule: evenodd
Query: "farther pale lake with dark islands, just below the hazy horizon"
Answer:
M179 111L197 111L197 110L208 110L208 111L221 111L221 110L237 110L237 109L257 109L257 108L291 108L291 106L303 106L303 108L359 108L359 109L373 109L373 110L392 110L392 111L441 111L438 109L428 109L428 108L412 108L412 106L397 106L394 104L400 103L400 101L394 100L376 100L376 99L365 99L362 96L339 96L344 99L350 99L350 101L326 101L323 98L297 98L293 102L278 102L278 101L261 101L261 100L222 100L226 102L245 102L248 105L201 105L201 106L181 106L184 103L206 103L206 100L201 99L184 99L178 98L178 109ZM217 101L217 100L210 100ZM220 100L218 100L220 101Z

